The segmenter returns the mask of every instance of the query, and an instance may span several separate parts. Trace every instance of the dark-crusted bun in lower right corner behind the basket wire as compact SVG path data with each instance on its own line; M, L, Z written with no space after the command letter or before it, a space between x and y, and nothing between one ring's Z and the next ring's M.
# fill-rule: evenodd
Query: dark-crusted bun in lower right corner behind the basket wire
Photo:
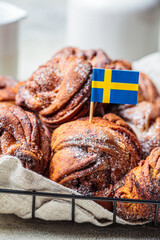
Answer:
M115 197L160 200L160 147L155 148L146 160L142 160L138 167L127 174L124 186L116 191ZM117 202L117 215L129 221L152 221L155 205Z

